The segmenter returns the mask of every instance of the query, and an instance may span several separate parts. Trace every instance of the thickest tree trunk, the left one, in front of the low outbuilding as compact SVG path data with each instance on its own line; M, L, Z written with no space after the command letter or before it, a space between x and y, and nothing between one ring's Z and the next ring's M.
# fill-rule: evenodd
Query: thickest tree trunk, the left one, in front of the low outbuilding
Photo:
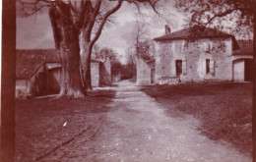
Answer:
M61 62L61 90L59 96L84 97L86 90L81 80L79 32L71 11L65 4L50 9L56 49Z

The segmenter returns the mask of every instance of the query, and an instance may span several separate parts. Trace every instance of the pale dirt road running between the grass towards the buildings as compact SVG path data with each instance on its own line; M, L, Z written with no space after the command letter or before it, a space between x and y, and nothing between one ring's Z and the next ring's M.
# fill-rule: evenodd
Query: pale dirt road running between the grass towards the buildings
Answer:
M250 157L216 143L196 130L187 116L167 117L160 104L133 86L119 82L111 111L88 130L41 161L102 162L249 162Z

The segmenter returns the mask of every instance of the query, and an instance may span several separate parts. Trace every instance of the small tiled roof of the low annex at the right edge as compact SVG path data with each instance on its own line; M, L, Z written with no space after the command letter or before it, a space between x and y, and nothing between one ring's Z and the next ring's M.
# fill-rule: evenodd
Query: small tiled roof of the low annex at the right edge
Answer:
M238 55L253 55L253 40L237 40L239 51Z

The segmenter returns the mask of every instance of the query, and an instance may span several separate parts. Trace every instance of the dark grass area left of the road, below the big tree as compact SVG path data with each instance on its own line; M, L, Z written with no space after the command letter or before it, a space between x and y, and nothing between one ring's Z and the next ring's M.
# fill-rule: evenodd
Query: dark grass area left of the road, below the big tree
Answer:
M110 110L114 91L96 90L83 99L16 100L15 161L33 161L83 133Z

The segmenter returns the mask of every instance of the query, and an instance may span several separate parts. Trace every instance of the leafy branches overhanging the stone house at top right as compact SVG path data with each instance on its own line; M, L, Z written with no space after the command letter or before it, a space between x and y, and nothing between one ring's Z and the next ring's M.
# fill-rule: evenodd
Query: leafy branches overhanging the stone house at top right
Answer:
M189 15L188 26L218 27L252 37L253 0L176 0L175 7Z

